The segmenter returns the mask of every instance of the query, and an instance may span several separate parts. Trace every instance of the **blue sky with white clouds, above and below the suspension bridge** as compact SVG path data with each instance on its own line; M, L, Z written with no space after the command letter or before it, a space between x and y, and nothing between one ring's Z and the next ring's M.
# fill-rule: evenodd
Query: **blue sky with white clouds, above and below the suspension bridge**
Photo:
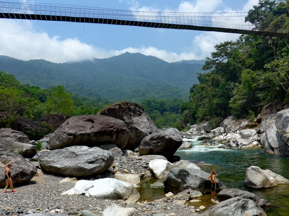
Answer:
M157 12L248 12L253 5L258 4L258 0L44 2ZM45 59L57 63L108 58L124 52L140 52L167 62L198 60L210 56L216 44L236 40L240 36L232 33L39 20L0 19L0 26L0 55L22 60Z

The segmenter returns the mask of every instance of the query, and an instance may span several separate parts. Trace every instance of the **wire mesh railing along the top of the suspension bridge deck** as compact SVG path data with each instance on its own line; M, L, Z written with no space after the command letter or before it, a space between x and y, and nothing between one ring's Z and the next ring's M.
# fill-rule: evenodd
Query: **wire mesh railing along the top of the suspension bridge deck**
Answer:
M73 7L72 7L73 6ZM194 25L228 29L253 30L254 26L244 22L247 12L232 13L179 13L114 10L97 7L59 5L48 3L0 2L0 13L36 14L104 18L127 21L157 22L167 24Z

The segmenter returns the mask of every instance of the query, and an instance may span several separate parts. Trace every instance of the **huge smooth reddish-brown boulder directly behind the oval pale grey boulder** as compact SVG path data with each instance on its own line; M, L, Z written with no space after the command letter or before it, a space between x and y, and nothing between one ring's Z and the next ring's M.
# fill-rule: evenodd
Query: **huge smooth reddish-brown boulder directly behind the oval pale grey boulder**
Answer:
M55 130L47 149L73 145L95 147L105 143L114 143L123 149L128 139L129 130L119 119L104 115L77 115L67 119Z

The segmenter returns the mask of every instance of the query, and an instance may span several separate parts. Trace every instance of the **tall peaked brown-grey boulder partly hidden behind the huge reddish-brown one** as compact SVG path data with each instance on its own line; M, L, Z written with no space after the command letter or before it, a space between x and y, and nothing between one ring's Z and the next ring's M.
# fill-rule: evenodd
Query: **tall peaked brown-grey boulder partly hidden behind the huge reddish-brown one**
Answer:
M103 109L101 115L122 120L129 129L129 139L125 149L134 150L144 137L158 132L144 108L136 103L120 102Z

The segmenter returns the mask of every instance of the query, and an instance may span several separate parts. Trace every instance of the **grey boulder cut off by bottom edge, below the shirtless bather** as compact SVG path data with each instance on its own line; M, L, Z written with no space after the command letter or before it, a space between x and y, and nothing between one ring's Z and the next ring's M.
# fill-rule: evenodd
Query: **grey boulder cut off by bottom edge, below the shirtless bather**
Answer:
M263 209L253 200L231 198L212 206L202 216L266 216Z

